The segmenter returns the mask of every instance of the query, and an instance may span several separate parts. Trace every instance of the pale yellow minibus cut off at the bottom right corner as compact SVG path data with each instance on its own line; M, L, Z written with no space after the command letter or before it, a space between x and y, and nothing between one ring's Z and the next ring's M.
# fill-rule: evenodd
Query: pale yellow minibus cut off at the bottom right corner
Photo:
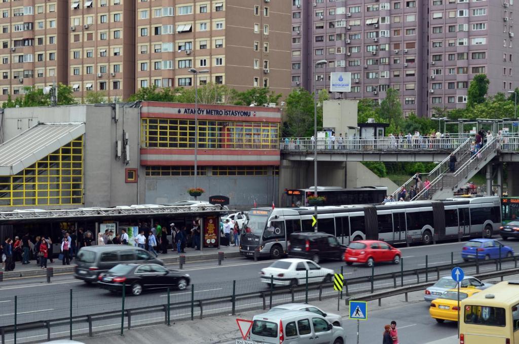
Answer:
M519 281L504 281L463 299L460 343L519 344Z

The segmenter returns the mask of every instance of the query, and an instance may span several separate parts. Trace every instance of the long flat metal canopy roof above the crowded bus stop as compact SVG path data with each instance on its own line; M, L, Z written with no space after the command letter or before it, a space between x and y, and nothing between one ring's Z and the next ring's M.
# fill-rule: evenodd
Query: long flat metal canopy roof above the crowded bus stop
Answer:
M203 213L227 213L229 210L223 209L220 205L131 205L114 208L77 208L77 209L24 209L0 212L0 223L16 220L42 220L42 219L86 219L122 216L157 216L157 215L189 215Z

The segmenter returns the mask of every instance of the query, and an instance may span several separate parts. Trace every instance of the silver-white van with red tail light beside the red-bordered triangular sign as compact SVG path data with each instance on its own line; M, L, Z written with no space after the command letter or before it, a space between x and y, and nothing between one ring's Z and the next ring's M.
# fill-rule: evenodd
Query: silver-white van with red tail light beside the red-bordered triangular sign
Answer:
M346 333L319 314L279 310L255 315L249 339L265 344L344 344Z

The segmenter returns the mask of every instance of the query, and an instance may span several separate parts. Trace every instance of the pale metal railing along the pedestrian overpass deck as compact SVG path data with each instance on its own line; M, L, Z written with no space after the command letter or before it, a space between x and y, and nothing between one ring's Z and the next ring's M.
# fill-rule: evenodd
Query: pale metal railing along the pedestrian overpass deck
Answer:
M310 137L285 137L280 141L281 150L290 153L313 151L317 144L319 151L351 151L377 152L388 150L454 150L469 138L469 135L449 135L436 139L435 136L405 137L389 136L372 139L356 137L327 137L326 139L312 140Z

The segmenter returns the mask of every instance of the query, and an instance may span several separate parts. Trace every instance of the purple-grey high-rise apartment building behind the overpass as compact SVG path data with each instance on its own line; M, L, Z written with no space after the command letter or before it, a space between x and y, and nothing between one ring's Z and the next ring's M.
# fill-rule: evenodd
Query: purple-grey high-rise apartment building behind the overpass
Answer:
M465 107L475 74L489 94L517 87L513 11L513 0L292 0L292 87L351 72L343 98L381 100L391 87L405 115Z

